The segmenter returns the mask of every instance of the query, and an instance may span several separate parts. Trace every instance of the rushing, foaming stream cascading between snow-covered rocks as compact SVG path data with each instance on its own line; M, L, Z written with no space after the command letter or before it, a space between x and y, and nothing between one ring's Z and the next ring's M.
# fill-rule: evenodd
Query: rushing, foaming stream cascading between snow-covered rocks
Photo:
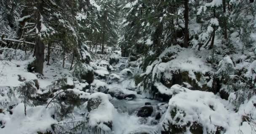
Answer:
M116 65L117 66L117 65ZM113 121L113 131L114 134L160 134L159 119L155 120L155 116L159 109L161 109L159 104L166 104L162 101L152 100L144 98L143 95L137 94L133 88L134 81L133 76L136 73L134 68L129 68L133 71L133 75L122 75L121 71L125 69L123 65L121 67L114 67L114 71L109 72L117 74L123 80L118 83L108 84L110 88L118 88L125 94L134 94L136 98L132 100L127 99L117 99L115 97L110 100L116 109L115 118ZM127 64L125 65L127 67ZM135 73L134 73L135 72ZM136 73L137 74L137 73ZM109 81L109 75L103 82ZM149 117L138 117L137 111L145 106L145 103L149 103L153 107L153 113ZM163 108L164 109L164 108Z

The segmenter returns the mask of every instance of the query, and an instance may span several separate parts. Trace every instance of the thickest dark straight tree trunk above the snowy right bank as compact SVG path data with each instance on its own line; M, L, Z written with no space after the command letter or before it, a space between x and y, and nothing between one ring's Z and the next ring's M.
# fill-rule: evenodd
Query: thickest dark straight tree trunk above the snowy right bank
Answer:
M185 19L185 30L184 30L184 47L187 48L189 46L189 0L184 0L185 5L185 13L184 13L184 19Z

